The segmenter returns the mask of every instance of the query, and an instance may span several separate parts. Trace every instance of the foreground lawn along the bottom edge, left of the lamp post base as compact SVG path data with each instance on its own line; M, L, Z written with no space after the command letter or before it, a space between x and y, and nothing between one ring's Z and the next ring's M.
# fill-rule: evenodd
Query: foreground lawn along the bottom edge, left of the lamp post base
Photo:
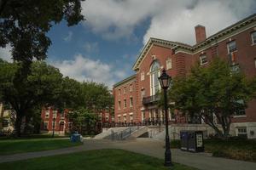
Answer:
M25 161L1 163L0 167L8 170L166 170L164 160L144 156L125 150L88 150L61 156L40 157ZM173 170L195 170L196 168L175 164Z

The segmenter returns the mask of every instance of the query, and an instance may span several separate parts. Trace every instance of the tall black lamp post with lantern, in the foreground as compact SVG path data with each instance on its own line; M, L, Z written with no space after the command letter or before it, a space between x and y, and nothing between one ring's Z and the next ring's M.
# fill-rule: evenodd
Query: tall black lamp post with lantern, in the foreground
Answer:
M168 114L167 114L167 89L170 86L170 82L172 81L172 77L166 74L166 70L164 69L161 76L158 77L161 88L164 90L164 104L165 104L165 115L166 115L166 152L165 152L165 166L172 167L172 153L170 150L170 138L168 132Z

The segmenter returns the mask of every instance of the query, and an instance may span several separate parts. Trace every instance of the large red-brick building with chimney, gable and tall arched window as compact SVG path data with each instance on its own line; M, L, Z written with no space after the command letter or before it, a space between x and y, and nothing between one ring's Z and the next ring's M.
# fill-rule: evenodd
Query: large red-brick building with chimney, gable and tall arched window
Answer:
M171 77L185 76L192 65L200 61L208 65L219 56L239 69L247 77L256 76L256 14L207 37L204 26L195 26L196 44L190 46L150 38L139 54L132 69L136 73L113 85L115 122L147 122L163 120L164 113L157 105L160 99L158 77L165 68ZM169 111L173 123L201 123ZM232 127L236 134L246 133L256 138L256 101L249 102L245 111L233 116Z

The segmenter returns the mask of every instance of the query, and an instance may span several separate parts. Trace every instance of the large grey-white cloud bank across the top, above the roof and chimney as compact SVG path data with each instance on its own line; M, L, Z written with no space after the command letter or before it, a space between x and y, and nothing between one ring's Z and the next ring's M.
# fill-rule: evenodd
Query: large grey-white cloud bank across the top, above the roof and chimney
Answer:
M82 3L84 25L113 40L132 37L143 20L150 25L149 37L195 43L194 27L207 27L207 36L255 13L255 0L87 0Z

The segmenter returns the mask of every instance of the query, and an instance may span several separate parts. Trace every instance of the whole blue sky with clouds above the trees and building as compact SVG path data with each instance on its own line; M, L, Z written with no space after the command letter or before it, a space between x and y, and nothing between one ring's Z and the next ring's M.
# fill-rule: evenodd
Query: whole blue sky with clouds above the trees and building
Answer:
M47 62L64 76L113 83L134 74L131 67L149 37L195 44L194 27L206 26L207 37L256 13L255 0L86 0L85 21L55 25ZM0 57L11 61L11 47Z

